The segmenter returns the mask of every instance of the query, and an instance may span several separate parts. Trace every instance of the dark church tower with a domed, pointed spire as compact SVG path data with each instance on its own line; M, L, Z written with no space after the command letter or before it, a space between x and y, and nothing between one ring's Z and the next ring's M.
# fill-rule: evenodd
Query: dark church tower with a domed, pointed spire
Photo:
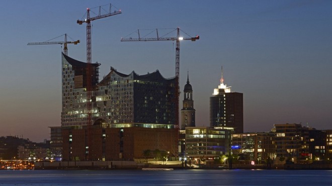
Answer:
M187 77L187 84L184 89L183 108L181 109L181 130L186 127L195 127L195 109L193 100L193 88L189 83L189 72Z

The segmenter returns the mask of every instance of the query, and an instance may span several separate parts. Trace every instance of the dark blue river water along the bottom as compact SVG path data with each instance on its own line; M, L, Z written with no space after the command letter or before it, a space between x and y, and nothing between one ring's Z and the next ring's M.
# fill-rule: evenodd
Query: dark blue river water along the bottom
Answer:
M0 185L332 185L332 170L0 170Z

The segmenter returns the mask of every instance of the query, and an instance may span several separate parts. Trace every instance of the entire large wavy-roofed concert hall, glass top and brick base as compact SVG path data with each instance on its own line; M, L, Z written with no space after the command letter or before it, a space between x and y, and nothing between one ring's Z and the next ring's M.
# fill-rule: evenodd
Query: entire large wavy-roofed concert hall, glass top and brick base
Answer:
M92 64L93 93L87 100L87 63L62 54L63 159L133 159L146 149L177 156L176 78L165 79L159 71L123 74L111 67L98 82L99 66ZM87 126L88 101L92 126Z

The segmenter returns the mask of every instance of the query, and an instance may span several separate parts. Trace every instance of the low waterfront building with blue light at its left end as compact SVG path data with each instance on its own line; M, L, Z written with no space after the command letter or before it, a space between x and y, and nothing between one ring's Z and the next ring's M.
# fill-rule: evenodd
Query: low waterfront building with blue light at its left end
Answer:
M232 134L232 153L238 157L239 162L245 164L267 162L274 159L276 145L275 133L234 133Z

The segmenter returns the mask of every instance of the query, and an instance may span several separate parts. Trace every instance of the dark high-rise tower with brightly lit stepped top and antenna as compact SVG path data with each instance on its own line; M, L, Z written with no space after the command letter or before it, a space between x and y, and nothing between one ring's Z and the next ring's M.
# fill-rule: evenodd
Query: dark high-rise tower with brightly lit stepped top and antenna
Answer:
M210 97L210 126L233 127L235 133L243 133L243 94L231 92L221 79Z

